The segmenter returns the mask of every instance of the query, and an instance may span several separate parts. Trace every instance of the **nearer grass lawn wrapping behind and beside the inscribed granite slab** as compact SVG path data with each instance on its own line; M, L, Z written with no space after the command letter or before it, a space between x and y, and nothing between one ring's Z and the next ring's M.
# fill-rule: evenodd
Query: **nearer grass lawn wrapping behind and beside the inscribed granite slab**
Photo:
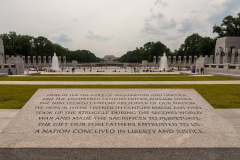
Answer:
M214 108L240 108L240 85L0 85L0 109L20 109L39 88L195 89Z

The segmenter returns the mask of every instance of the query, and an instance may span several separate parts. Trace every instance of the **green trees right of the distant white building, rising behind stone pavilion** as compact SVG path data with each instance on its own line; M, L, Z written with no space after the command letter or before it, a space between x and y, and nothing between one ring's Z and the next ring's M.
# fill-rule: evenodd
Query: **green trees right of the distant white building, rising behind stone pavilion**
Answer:
M220 26L213 27L213 33L217 33L215 38L202 37L197 33L188 36L184 43L175 51L170 51L166 45L161 42L148 42L143 47L128 51L119 58L120 62L136 63L142 60L153 61L153 56L205 56L214 55L217 38L226 36L240 36L240 13L237 17L231 15L225 17Z

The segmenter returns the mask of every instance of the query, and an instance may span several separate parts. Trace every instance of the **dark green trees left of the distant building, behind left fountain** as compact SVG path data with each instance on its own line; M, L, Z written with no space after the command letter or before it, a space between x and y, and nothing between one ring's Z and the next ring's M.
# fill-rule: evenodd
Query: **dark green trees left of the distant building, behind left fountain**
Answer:
M29 35L20 35L16 32L1 34L5 55L14 56L66 56L67 61L77 60L78 62L100 62L100 58L88 50L70 51L59 44L52 43L46 37L37 38Z

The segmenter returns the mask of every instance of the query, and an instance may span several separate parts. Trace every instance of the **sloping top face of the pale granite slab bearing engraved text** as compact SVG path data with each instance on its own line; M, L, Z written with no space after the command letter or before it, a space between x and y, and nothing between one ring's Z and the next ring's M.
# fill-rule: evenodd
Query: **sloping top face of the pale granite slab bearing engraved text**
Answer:
M39 89L2 147L233 147L239 135L193 89Z

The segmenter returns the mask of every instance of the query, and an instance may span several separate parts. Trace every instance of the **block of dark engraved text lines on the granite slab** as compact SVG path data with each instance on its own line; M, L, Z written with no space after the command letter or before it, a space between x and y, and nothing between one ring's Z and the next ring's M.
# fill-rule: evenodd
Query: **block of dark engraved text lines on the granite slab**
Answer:
M199 122L202 108L186 94L47 94L34 107L38 120L34 133L205 132Z

